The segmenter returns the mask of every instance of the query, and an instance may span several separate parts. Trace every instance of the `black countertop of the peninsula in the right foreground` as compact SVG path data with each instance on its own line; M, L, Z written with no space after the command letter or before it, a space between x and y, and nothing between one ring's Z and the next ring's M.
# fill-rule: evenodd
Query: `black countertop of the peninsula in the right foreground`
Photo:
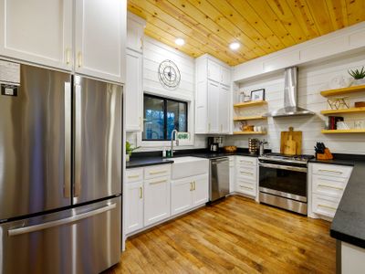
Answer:
M365 248L365 157L353 155L353 170L332 220L330 236Z

